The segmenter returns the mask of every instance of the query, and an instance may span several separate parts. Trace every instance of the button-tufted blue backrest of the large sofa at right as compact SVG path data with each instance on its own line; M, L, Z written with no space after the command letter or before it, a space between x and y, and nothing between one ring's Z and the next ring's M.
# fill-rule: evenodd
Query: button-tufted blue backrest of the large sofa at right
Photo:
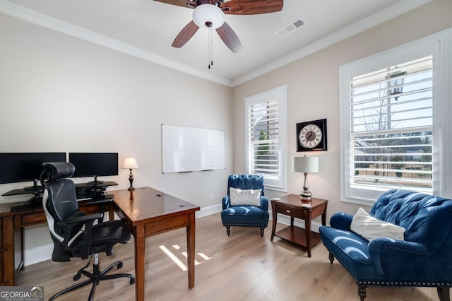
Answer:
M391 189L370 211L379 220L405 228L405 241L424 244L434 252L452 252L452 201L439 196Z

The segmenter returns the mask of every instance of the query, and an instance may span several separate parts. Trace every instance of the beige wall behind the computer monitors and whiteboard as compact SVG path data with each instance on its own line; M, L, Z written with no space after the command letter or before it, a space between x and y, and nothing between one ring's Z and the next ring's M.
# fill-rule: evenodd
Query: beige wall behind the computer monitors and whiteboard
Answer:
M0 54L0 152L117 152L120 167L136 158L135 187L220 208L232 173L230 87L3 14ZM225 130L225 170L163 175L161 124ZM121 189L129 187L128 175L120 168L119 176L102 179ZM1 184L0 194L22 187ZM26 249L52 243L42 227L27 228Z

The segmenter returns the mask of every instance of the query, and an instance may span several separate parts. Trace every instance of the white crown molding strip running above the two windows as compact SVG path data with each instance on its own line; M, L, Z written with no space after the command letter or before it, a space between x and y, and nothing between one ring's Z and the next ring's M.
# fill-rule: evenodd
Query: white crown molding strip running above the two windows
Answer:
M314 52L318 52L319 50L331 46L337 42L347 39L348 37L352 37L358 33L362 33L364 30L368 30L369 28L373 28L376 25L384 23L392 18L396 18L397 16L402 15L408 11L412 11L415 8L418 8L424 4L427 4L433 0L403 0L392 6L388 6L387 8L379 11L378 13L374 13L373 15L359 20L357 23L347 26L342 30L338 30L337 32L324 37L323 39L308 45L307 47L303 47L296 52L292 52L292 54L288 54L287 56L278 59L276 61L267 64L266 66L262 66L259 69L251 71L250 73L241 76L240 78L232 81L232 87L237 85L241 85L242 83L246 83L247 81L251 81L258 76L262 76L270 71L278 69L282 66L290 64L298 59L302 59L303 57L307 57L309 54L313 54Z

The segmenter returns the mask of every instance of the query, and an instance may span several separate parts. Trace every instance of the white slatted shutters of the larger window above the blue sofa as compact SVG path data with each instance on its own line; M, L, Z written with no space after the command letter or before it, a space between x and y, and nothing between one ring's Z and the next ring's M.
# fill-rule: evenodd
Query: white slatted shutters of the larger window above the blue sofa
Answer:
M432 192L432 56L350 81L352 187Z

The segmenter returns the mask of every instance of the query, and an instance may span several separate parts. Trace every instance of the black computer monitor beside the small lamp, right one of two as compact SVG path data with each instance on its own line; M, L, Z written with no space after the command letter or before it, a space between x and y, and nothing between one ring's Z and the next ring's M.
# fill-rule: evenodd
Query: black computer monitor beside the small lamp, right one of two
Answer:
M118 153L69 153L69 162L76 167L73 177L94 177L90 184L100 184L100 176L118 175Z

